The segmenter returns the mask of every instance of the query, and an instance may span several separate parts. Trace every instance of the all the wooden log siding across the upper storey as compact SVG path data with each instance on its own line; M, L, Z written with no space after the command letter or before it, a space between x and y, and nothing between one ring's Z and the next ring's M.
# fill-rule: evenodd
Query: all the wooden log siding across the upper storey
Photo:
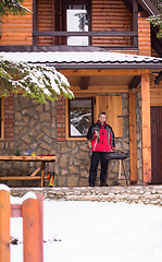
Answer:
M54 5L60 4L60 5ZM33 0L25 0L24 7L33 10ZM55 24L58 17L54 10L64 10L63 0L38 0L37 1L37 31L52 32L59 31ZM91 29L96 32L128 32L133 28L133 15L127 10L122 0L92 0ZM59 11L60 13L61 11ZM57 11L58 13L58 11ZM139 14L140 15L140 14ZM63 14L62 16L65 16ZM2 24L2 37L0 45L33 45L33 14L25 16L9 15L4 17ZM65 21L60 21L60 31L65 31ZM63 25L64 24L64 25ZM133 44L133 37L90 37L94 46L121 46L120 52L151 56L150 23L145 17L138 17L138 44L139 50L123 50L122 46ZM37 45L66 45L66 37L39 36Z

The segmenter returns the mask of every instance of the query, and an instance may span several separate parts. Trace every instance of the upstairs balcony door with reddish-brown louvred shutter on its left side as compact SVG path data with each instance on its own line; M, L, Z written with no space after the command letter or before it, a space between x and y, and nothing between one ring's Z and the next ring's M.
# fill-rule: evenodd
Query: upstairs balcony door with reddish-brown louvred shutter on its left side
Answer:
M89 32L91 0L37 0L35 29L45 32L36 39L38 45L88 46L91 37L71 35L73 32ZM68 32L60 36L48 36L48 32Z

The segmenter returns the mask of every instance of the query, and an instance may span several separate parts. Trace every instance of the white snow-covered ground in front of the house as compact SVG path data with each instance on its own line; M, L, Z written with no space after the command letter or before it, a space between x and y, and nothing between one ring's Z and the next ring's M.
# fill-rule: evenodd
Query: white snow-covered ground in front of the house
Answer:
M162 261L162 207L51 200L43 206L45 262ZM22 218L11 218L18 241L21 225ZM11 245L11 262L21 261L23 245Z

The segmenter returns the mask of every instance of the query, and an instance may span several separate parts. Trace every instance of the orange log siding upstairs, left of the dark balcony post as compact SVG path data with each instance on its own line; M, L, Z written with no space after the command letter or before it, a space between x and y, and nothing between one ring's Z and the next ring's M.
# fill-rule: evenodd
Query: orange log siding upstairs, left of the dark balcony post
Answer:
M33 1L24 0L23 5L33 11ZM33 45L33 13L24 16L9 15L2 19L0 45Z

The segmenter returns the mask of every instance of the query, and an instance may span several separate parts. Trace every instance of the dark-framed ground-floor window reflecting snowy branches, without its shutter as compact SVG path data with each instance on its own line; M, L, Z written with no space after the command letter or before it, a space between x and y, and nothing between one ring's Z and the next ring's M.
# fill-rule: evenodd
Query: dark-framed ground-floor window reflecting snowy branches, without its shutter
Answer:
M86 138L94 122L92 97L68 100L68 136Z

